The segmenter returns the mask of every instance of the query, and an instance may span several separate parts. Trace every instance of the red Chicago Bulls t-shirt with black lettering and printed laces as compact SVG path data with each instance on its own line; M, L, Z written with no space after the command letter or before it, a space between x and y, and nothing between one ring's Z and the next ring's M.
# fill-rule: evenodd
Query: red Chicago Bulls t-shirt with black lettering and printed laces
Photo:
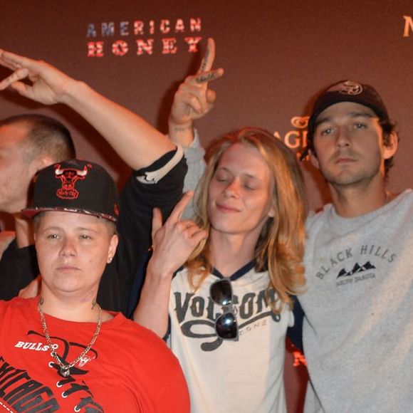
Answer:
M120 313L102 324L93 348L59 373L44 338L38 298L0 301L0 411L189 412L187 385L165 343ZM96 323L46 316L56 352L73 362Z

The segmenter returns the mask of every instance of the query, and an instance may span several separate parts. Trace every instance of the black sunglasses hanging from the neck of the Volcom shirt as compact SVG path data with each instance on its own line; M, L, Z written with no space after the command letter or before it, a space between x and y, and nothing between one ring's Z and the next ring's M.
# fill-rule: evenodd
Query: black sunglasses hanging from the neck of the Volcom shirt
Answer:
M216 335L224 340L238 340L231 282L225 279L215 281L209 288L209 294L214 303L222 305L224 310L224 313L215 320Z

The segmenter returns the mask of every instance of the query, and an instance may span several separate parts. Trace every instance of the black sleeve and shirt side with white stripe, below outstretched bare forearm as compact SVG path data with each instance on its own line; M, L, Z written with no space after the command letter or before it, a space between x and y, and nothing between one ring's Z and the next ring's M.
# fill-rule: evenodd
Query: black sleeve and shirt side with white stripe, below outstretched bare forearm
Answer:
M108 310L127 314L130 288L140 257L152 244L152 210L158 207L166 219L182 197L187 164L184 157L157 183L143 183L137 177L164 167L176 150L168 152L150 167L132 173L120 193L117 222L119 244L113 262L106 267L100 282L98 302Z

